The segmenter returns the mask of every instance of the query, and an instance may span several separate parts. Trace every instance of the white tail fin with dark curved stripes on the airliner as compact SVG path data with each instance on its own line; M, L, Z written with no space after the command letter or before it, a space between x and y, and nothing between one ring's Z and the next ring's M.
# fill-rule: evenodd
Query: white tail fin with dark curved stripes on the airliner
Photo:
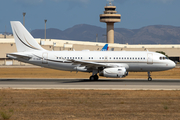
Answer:
M19 21L11 21L18 52L44 50Z

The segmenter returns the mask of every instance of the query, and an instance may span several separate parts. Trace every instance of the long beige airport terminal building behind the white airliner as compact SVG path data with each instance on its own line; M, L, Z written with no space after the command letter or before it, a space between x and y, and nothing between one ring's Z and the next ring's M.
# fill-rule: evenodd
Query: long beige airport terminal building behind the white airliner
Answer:
M72 40L57 39L38 39L36 41L46 50L50 51L100 51L105 43L82 42ZM129 45L129 44L109 44L109 50L112 51L163 51L173 61L180 61L180 45ZM0 66L4 65L28 65L6 57L7 53L17 52L13 36L11 38L0 38Z

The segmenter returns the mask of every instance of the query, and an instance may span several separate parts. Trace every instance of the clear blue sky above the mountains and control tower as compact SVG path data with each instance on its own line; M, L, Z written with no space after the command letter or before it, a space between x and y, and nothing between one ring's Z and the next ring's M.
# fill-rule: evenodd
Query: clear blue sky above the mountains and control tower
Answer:
M0 32L11 32L10 21L23 22L31 31L47 28L65 30L77 24L105 28L99 22L107 0L0 0ZM122 21L116 28L137 29L148 25L180 26L180 0L114 0Z

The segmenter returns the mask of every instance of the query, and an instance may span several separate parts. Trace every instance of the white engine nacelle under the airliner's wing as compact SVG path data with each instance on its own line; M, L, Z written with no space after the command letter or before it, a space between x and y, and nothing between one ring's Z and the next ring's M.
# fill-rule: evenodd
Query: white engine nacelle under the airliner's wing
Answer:
M112 78L122 78L128 75L125 67L117 68L105 68L99 73L100 76L112 77Z

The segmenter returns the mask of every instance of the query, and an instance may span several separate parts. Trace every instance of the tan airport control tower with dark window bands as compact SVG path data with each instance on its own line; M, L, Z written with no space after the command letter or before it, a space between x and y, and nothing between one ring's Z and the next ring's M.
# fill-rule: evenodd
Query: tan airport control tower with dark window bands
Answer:
M116 14L116 6L112 5L113 0L108 1L109 5L104 7L104 14L100 15L100 22L107 24L107 43L114 43L114 23L121 21L121 15Z

